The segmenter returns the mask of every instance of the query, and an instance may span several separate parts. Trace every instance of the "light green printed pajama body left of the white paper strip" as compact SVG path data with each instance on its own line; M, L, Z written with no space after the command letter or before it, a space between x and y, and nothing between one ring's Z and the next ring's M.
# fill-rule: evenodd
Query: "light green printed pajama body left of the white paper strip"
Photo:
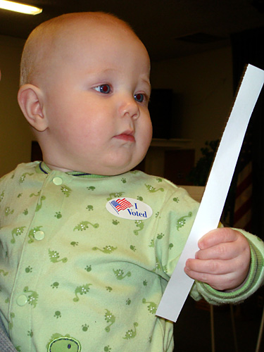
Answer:
M6 175L0 195L0 304L21 352L173 350L172 323L155 313L198 209L186 191L140 171L103 177L34 162ZM118 198L152 216L109 213Z

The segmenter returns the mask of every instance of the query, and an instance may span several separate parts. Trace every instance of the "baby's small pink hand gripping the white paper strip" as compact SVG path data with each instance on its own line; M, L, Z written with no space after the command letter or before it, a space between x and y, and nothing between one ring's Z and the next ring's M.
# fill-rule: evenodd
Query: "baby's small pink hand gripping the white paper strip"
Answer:
M206 282L218 291L236 289L249 272L249 242L240 232L222 227L205 234L198 242L195 259L184 271L192 279Z

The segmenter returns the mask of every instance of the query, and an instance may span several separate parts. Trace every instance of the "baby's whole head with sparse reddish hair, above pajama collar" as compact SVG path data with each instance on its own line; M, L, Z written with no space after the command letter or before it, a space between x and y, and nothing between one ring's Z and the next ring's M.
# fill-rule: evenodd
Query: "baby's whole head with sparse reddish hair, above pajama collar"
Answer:
M129 25L71 13L39 25L21 61L18 102L51 169L118 175L151 142L149 56Z

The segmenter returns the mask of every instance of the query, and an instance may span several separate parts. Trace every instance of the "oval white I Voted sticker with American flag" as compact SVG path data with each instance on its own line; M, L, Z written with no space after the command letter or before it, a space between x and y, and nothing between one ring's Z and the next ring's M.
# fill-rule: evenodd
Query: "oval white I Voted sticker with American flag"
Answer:
M146 220L152 215L150 206L133 198L111 199L106 203L106 209L119 218L130 220Z

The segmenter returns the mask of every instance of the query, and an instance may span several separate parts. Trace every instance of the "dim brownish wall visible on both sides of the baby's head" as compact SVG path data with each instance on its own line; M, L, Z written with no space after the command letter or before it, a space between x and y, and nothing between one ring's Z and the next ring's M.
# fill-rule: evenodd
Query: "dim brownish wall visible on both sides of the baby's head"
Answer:
M22 39L0 36L0 176L30 161L30 128L17 103ZM230 47L152 63L153 88L172 88L175 137L193 139L196 159L206 140L222 135L232 103Z

